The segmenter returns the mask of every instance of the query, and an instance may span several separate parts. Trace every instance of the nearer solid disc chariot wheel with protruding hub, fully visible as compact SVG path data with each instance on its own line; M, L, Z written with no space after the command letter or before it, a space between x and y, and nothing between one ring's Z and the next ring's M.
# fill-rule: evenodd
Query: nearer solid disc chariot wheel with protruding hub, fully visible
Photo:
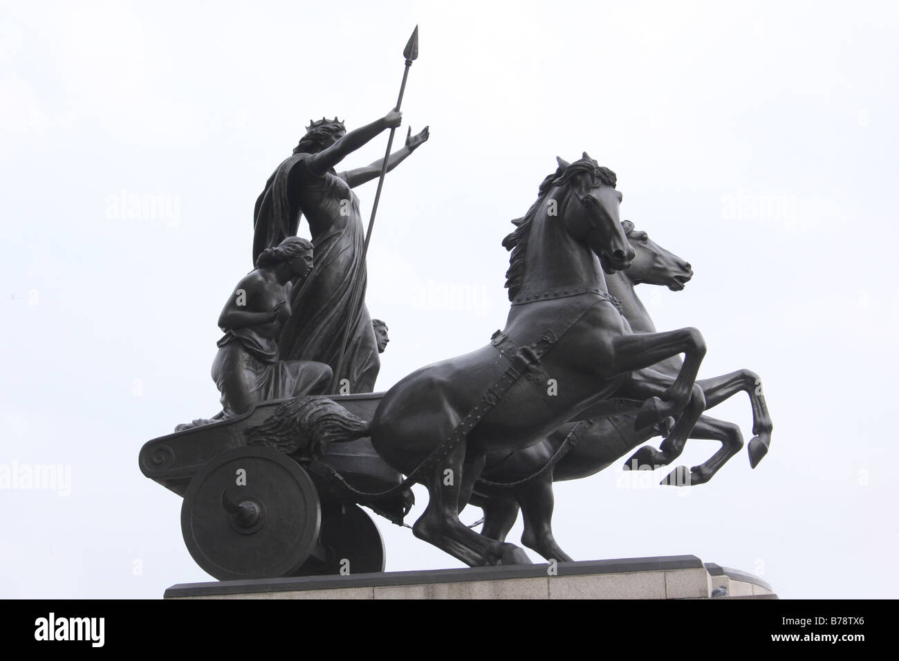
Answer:
M295 576L316 548L320 524L312 478L263 447L209 460L191 479L181 508L191 557L222 581Z

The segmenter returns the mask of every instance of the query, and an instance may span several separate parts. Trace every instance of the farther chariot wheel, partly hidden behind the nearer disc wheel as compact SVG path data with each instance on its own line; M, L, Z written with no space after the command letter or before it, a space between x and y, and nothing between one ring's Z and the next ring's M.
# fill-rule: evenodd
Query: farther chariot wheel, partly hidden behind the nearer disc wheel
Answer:
M322 505L320 543L325 549L324 562L309 558L297 572L299 576L384 571L384 540L359 505Z

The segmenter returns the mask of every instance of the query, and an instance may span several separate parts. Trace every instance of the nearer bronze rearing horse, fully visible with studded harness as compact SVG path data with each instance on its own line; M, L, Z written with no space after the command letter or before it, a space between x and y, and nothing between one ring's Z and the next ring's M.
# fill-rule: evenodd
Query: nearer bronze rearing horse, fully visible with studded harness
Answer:
M530 562L459 521L486 452L545 438L616 392L623 376L680 353L677 378L645 401L636 424L681 414L666 442L682 444L705 406L694 385L706 351L699 331L634 335L606 293L603 271L625 269L635 255L619 223L615 174L586 153L570 165L558 160L503 241L512 251L503 332L400 380L366 430L388 464L428 488L415 536L471 566Z

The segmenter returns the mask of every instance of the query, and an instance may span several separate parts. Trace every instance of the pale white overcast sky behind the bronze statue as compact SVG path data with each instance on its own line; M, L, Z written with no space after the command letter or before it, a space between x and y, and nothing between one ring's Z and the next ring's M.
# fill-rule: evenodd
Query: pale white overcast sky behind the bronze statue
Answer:
M503 325L509 220L556 155L587 150L618 173L622 218L693 264L682 292L640 290L656 325L702 330L702 376L759 372L775 431L758 469L743 451L689 496L621 488L617 467L557 485L556 539L577 559L695 554L783 597L895 595L894 5L0 12L0 465L71 473L68 496L0 490L0 596L210 580L181 499L140 474L138 451L218 410L216 319L251 268L257 194L310 117L353 128L391 108L415 23L404 119L432 138L388 175L370 246L369 309L392 340L378 389ZM129 195L166 213L129 218ZM465 298L442 302L450 287ZM752 435L745 397L712 415ZM690 442L679 463L716 448ZM459 566L378 525L388 570Z

